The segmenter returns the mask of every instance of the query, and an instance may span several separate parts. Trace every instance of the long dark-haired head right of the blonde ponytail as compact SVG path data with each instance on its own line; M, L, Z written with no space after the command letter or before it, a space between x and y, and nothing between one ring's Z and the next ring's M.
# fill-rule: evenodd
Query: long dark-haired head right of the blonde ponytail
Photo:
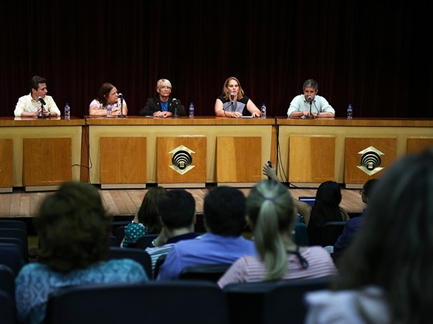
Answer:
M325 181L316 192L316 202L311 209L311 217L315 217L318 226L326 222L341 221L342 213L339 204L342 202L342 190L335 181Z

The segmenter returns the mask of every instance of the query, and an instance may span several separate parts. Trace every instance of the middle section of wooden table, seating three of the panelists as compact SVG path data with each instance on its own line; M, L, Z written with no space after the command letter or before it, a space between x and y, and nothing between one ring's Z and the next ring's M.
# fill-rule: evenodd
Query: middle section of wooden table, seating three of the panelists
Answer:
M147 140L147 183L157 183L157 138L203 136L206 139L206 183L216 182L217 137L260 137L260 161L276 157L276 132L274 118L226 118L200 116L189 118L152 118L128 116L126 118L88 117L90 183L101 183L101 138L102 137L145 137ZM125 151L135 156L135 152ZM244 167L249 167L244 166ZM257 167L256 167L257 168ZM258 166L261 168L261 165ZM260 173L261 171L256 171ZM265 178L265 176L260 176ZM259 180L259 179L257 179Z

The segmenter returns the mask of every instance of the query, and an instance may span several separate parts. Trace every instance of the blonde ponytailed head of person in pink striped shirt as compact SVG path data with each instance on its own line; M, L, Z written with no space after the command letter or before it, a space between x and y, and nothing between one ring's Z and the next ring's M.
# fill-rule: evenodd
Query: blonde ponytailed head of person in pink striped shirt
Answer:
M265 262L267 277L281 279L287 270L284 236L291 237L295 205L287 188L275 180L262 180L249 192L247 215L254 226L254 242Z

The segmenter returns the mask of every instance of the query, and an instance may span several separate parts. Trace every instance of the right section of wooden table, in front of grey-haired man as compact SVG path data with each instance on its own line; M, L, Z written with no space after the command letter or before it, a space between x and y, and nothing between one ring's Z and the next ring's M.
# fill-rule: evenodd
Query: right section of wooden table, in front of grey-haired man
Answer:
M356 168L352 165L360 163L359 152L367 149L368 144L374 144L379 139L392 139L386 144L390 155L386 157L386 166L394 162L399 157L420 151L423 148L432 145L433 138L433 120L414 120L414 119L378 119L378 118L353 118L351 121L346 118L277 118L279 125L279 160L281 170L288 174L288 181L296 180L296 185L311 187L311 177L292 178L291 170L293 168L314 168L315 165L330 164L335 171L333 180L337 183L345 183L347 187L362 187L369 176L356 175L355 172L348 171L346 168ZM334 159L318 159L315 164L309 164L311 156L320 156L328 150L325 146L303 146L303 150L298 147L291 147L293 137L334 137L335 138L335 157ZM346 141L346 139L351 139ZM359 140L357 140L359 139ZM366 140L369 139L369 140ZM355 143L359 142L363 146L357 147ZM353 148L346 146L347 143L353 144ZM290 145L289 145L290 144ZM390 147L393 146L393 147ZM360 151L356 149L360 148ZM352 151L352 149L354 151ZM296 150L293 152L292 150ZM356 152L355 152L356 151ZM348 158L346 153L350 153ZM293 157L298 155L296 159ZM300 155L300 156L299 156ZM293 159L293 160L291 160ZM346 165L346 161L351 161L351 165ZM293 165L300 164L300 165ZM289 172L290 171L290 172ZM283 173L281 172L281 173ZM312 170L304 171L306 175L314 173ZM281 174L280 173L280 174ZM298 176L298 175L297 175ZM372 177L377 177L372 176ZM320 182L315 184L320 185Z

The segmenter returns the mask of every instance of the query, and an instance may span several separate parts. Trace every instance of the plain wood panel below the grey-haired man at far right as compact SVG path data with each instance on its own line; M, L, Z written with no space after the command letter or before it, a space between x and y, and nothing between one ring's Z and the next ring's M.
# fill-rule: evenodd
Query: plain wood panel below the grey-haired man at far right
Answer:
M335 180L334 136L291 136L288 174L291 183Z

